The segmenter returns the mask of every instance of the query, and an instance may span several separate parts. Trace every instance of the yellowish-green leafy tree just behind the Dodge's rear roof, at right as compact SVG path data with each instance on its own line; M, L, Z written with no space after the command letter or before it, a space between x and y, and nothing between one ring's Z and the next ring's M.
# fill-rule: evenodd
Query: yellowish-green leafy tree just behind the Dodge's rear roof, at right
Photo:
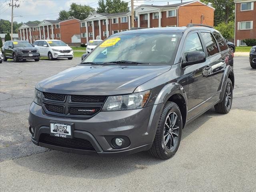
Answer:
M230 21L228 22L228 24L226 24L225 22L221 22L214 28L218 30L224 38L234 39L235 37L234 27L235 27L234 21Z

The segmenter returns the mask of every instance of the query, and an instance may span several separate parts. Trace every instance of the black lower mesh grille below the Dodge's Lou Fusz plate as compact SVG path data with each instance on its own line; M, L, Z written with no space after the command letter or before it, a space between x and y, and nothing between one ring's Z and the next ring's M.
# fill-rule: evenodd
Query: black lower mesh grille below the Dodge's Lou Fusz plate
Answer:
M59 147L95 151L90 141L81 138L62 138L43 133L40 135L39 142Z

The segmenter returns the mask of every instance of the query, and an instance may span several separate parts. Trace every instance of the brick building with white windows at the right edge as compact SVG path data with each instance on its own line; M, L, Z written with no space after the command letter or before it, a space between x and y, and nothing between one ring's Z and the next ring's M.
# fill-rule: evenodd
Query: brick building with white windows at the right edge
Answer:
M235 0L235 45L243 39L256 39L256 0Z

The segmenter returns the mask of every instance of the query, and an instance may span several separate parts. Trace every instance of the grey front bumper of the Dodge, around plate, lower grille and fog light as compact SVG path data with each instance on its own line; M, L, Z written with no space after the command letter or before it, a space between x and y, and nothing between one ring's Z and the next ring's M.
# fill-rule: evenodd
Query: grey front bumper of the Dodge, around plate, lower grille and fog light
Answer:
M32 142L36 145L80 154L128 155L150 149L163 104L137 110L99 112L90 119L63 118L45 114L42 107L32 102L29 124L34 128ZM41 134L50 134L50 121L74 123L74 138L88 140L94 150L81 150L40 142ZM126 136L130 145L114 148L107 137Z

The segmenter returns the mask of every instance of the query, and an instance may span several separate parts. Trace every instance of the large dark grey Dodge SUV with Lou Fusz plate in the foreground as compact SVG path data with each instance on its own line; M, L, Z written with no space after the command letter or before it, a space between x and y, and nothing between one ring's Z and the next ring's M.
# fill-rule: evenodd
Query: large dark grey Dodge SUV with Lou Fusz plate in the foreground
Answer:
M168 159L186 124L213 106L230 111L233 85L232 52L213 28L121 32L36 85L32 142L99 155L149 150Z

